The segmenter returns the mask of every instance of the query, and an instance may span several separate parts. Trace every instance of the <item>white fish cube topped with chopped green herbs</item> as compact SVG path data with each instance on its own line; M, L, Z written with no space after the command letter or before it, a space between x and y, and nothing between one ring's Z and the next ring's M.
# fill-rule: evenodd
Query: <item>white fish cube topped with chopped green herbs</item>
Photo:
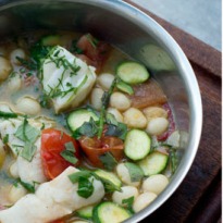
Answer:
M41 82L59 113L85 100L96 82L95 67L57 46L42 63Z

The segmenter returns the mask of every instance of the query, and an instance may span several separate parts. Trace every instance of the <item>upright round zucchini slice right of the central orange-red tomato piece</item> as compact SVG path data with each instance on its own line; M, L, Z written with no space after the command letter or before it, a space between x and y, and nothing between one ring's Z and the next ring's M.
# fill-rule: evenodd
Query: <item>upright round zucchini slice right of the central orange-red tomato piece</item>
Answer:
M132 129L126 135L124 146L124 152L129 159L141 160L150 151L151 139L146 132Z

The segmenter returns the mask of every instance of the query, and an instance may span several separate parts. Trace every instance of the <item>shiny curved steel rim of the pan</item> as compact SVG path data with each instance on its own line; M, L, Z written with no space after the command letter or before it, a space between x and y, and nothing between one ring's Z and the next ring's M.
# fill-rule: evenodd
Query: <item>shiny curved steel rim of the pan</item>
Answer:
M149 15L122 0L7 0L3 1L3 3L0 3L0 11L21 4L46 2L73 2L91 4L98 8L110 10L113 13L125 17L129 22L137 24L141 29L144 29L153 38L156 37L156 40L158 40L158 42L164 47L166 52L171 55L172 60L176 64L178 72L182 74L181 77L185 84L188 95L188 104L190 108L190 140L187 151L185 152L184 158L181 160L176 173L172 177L171 184L169 184L162 194L159 195L157 199L147 208L124 221L125 223L139 222L160 208L161 205L163 205L173 195L173 193L178 188L183 179L186 177L186 174L189 172L189 169L195 160L202 129L202 103L195 73L185 53L178 44L173 39L173 37Z

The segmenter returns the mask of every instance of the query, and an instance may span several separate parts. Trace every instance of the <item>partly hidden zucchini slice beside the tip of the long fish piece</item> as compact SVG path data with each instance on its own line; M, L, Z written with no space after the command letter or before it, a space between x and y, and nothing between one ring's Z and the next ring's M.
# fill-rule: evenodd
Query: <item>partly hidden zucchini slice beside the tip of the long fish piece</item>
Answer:
M95 175L103 183L108 193L121 190L122 182L115 174L99 169L95 171Z

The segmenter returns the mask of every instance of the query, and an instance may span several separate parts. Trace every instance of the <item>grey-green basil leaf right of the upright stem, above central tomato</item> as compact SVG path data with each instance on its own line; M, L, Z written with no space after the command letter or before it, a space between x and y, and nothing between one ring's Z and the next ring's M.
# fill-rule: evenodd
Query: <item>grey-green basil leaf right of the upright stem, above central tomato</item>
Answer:
M124 123L117 123L117 125L109 124L106 132L106 136L115 136L121 139L125 139L127 133L127 126Z

